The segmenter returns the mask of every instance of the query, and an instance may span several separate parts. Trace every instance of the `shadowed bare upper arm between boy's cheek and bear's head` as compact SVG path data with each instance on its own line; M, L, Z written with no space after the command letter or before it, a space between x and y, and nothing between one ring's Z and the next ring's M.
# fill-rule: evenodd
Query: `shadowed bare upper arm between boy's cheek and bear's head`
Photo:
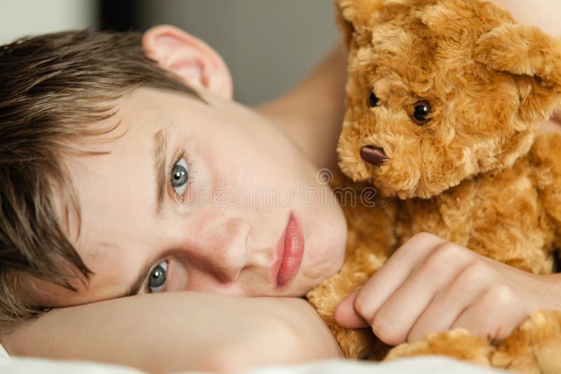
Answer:
M343 44L337 44L295 89L256 108L283 129L318 168L337 165L346 59Z

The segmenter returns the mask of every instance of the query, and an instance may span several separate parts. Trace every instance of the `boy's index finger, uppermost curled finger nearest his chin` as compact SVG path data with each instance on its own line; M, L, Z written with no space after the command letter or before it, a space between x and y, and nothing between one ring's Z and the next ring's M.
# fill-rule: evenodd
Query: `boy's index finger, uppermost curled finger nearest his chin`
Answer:
M357 312L372 321L379 307L405 282L410 272L435 248L452 244L442 237L421 233L403 244L366 282L355 301ZM452 244L456 245L456 244Z

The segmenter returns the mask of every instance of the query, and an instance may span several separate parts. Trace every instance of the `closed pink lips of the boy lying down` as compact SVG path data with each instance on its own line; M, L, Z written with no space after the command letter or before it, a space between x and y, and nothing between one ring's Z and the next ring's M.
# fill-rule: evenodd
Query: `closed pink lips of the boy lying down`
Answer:
M276 288L280 289L296 277L304 256L304 235L292 212L276 250L277 259L272 270L276 275Z

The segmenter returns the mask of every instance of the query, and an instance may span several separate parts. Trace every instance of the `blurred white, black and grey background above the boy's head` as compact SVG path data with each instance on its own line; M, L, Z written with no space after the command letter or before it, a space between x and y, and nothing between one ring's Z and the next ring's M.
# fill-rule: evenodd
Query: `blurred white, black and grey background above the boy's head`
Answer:
M257 104L292 88L339 40L331 0L0 0L0 43L61 29L169 23L210 44Z

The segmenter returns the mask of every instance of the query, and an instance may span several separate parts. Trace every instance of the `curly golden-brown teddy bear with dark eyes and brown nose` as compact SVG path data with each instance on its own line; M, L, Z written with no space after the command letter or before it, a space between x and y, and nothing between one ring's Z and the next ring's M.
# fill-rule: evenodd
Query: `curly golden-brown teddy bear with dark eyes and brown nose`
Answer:
M344 265L309 302L349 358L444 354L561 373L558 311L533 312L501 342L454 329L397 347L334 321L337 304L417 233L534 274L557 270L561 136L538 127L561 104L561 42L488 0L335 6L349 78L332 187L370 198L342 202Z

